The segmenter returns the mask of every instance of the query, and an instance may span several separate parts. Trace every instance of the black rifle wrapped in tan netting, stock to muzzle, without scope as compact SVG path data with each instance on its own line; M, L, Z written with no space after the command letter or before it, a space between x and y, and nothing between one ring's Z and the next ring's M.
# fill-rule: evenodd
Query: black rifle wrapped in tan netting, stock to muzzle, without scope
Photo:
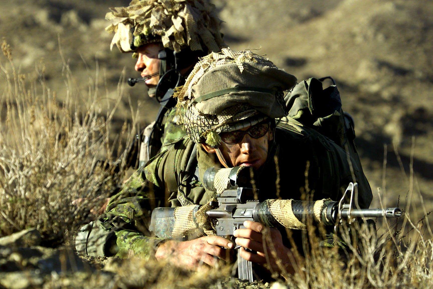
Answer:
M262 202L241 202L241 195L242 194L239 194L238 201L233 201L231 198L223 198L225 200L230 199L230 201L227 203L228 205L220 207L220 209L210 209L211 206L209 204L205 205L207 208L203 208L204 206L200 205L176 208L174 210L173 218L175 221L165 222L166 225L171 225L171 227L164 228L165 232L171 230L172 234L171 236L165 235L165 237L188 237L191 232L195 232L196 230L203 232L203 229L210 229L213 227L213 224L208 224L208 226L206 224L201 224L203 221L200 221L199 225L195 216L197 211L200 211L202 214L205 213L211 219L213 218L217 220L215 226L217 235L233 234L233 231L236 229L233 227L233 224L239 222L242 223L242 220L256 221L268 227L305 229L307 224L310 223L333 225L336 224L336 222L339 222L340 219L380 217L398 218L401 216L401 210L399 208L352 209L350 211L348 208L343 208L339 211L338 202L330 201L330 199L319 201L268 199ZM220 202L216 203L223 205ZM156 208L154 212L152 212L152 223L156 224L154 220L161 218L161 209L167 209L173 212L173 208ZM164 214L164 216L165 215L166 214ZM230 222L230 220L232 221ZM158 228L157 226L154 226L153 228L155 230L154 233L160 237L158 231L160 231L161 228ZM194 235L196 234L197 232L194 233ZM206 234L208 233L206 232ZM195 237L197 237L197 235Z

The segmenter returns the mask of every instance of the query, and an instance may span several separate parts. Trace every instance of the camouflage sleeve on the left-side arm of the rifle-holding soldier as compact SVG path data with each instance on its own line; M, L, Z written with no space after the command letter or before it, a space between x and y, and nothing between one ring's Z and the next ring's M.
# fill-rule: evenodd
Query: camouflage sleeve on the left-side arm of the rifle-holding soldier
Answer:
M176 192L177 179L181 176L176 174L179 169L173 166L182 165L181 154L191 152L191 144L186 138L172 143L168 146L169 150L165 149L151 159L147 166L136 171L122 191L110 199L100 219L104 229L114 231L115 248L111 251L117 257L152 257L158 244L166 240L149 237L150 217L154 208L181 205ZM202 190L201 187L198 189Z

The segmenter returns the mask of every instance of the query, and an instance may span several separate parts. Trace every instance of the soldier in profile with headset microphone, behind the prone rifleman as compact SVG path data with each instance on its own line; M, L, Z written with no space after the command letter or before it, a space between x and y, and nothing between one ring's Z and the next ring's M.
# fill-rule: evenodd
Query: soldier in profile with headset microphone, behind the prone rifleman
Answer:
M176 124L173 88L183 84L198 57L225 47L222 21L208 0L132 0L127 7L110 9L106 30L114 32L111 49L116 45L120 52L132 52L135 70L142 76L128 83L145 81L149 96L161 104L156 121L144 132L141 166L185 135Z

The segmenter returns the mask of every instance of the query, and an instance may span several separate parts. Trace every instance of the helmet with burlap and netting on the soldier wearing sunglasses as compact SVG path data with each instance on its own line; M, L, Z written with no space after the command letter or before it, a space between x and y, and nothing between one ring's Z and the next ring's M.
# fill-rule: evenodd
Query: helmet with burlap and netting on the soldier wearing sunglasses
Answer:
M195 143L220 144L219 133L284 117L284 91L296 78L251 51L223 48L202 58L176 88L178 122Z

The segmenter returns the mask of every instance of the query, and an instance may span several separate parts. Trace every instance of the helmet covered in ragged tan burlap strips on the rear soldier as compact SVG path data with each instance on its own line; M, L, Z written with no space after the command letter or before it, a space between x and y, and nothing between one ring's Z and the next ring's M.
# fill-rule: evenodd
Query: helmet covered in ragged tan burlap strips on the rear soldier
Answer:
M162 42L176 52L189 47L206 53L224 47L215 6L208 0L132 0L127 7L110 8L105 30L114 33L111 49L135 52L144 44Z

